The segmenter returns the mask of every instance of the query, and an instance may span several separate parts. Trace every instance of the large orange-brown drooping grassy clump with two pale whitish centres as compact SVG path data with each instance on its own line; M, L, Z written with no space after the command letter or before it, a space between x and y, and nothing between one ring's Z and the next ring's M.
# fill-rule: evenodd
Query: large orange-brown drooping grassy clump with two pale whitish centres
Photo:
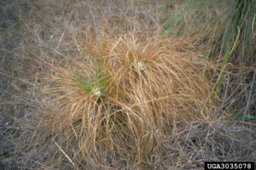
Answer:
M201 52L189 38L130 32L94 40L87 34L79 56L60 57L54 65L44 56L49 69L43 82L52 85L41 94L49 104L35 113L42 130L26 145L34 153L46 144L52 148L38 166L158 167L168 129L175 134L180 124L211 114L205 61L198 62Z

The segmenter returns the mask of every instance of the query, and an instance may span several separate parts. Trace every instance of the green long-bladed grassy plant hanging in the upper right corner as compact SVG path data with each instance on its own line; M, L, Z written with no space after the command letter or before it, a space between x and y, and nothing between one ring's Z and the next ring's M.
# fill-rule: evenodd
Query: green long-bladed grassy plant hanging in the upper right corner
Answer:
M216 62L212 77L212 96L223 103L227 102L224 105L229 103L230 107L232 105L236 108L237 103L230 100L233 99L242 104L239 106L241 110L247 108L246 105L250 102L245 103L239 100L244 100L245 96L251 96L248 95L248 93L251 94L248 87L252 83L256 61L253 54L255 1L196 0L179 3L167 1L167 3L166 6L172 4L177 10L175 9L163 24L165 31L181 36L200 32L204 37L203 41L199 40L207 44L204 58ZM179 26L182 26L182 30ZM227 80L226 77L230 78ZM227 83L229 87L224 88ZM242 87L247 87L247 90L239 93ZM232 96L227 97L227 94Z

